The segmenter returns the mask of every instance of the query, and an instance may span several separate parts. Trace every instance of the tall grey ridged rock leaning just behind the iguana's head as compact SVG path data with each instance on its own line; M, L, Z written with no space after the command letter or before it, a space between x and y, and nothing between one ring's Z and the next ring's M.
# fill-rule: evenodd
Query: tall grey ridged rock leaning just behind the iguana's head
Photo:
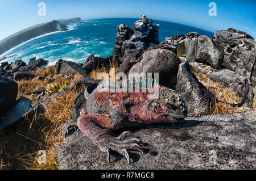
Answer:
M191 73L187 61L179 65L176 92L184 99L189 116L205 115L216 101L216 96Z

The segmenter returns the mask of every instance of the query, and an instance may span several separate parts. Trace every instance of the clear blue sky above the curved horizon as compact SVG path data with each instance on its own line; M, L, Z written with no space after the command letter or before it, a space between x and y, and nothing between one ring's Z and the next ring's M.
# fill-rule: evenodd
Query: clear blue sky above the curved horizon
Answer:
M46 16L38 15L38 3L46 3ZM210 2L217 16L209 16ZM203 28L211 32L230 27L256 39L256 1L236 0L0 0L0 40L24 28L53 19L148 18Z

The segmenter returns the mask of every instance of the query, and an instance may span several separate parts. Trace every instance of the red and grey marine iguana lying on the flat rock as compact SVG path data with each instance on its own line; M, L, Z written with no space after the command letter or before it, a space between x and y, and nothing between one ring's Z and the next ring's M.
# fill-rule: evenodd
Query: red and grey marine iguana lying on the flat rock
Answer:
M97 88L88 96L87 115L77 120L80 130L98 146L108 153L115 150L125 155L130 163L129 150L143 152L143 142L131 132L123 132L118 137L110 136L108 130L129 127L134 122L152 124L162 121L180 121L187 116L187 106L175 91L159 87L159 96L150 99L150 92L104 92ZM124 140L126 137L128 139Z

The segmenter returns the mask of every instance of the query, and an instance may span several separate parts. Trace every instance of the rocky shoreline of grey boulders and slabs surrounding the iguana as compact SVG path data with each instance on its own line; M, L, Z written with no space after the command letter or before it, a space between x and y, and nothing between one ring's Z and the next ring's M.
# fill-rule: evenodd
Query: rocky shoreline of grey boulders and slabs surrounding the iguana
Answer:
M66 143L56 150L60 169L255 169L256 42L253 37L229 28L216 31L214 37L188 32L186 36L166 37L166 41L159 43L159 28L159 24L143 15L133 28L125 24L117 27L112 56L101 58L92 54L84 64L61 59L51 71L41 74L38 72L46 70L48 64L43 58L30 58L28 64L22 60L11 64L2 62L0 131L13 129L11 125L19 124L27 115L43 115L53 99L70 90L79 90L72 102L72 121L64 124ZM86 107L85 87L89 86L91 92L100 82L92 74L100 69L108 70L112 62L117 62L118 71L127 75L159 73L160 85L174 89L188 107L184 123L130 128L148 144L145 155L132 154L130 166L118 154L113 154L115 161L107 165L106 155L81 131L73 129L77 127L80 111ZM43 89L30 90L33 99L21 96L16 100L20 81L56 80L56 76L68 79L77 75L79 78L72 79L68 85L63 83L57 91L48 87L52 86L48 83ZM207 82L212 82L212 87ZM212 114L216 103L222 101L218 98L226 96L224 92L216 95L212 91L213 83L240 97L240 103L234 100L225 103L240 107L239 112ZM8 116L12 112L17 112L15 117ZM212 153L217 155L214 163L209 161Z

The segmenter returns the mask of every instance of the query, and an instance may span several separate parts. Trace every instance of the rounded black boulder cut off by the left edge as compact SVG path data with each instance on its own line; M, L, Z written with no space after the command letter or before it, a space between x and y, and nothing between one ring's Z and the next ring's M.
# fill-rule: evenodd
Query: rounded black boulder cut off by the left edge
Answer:
M0 115L14 104L18 95L18 84L0 71Z

